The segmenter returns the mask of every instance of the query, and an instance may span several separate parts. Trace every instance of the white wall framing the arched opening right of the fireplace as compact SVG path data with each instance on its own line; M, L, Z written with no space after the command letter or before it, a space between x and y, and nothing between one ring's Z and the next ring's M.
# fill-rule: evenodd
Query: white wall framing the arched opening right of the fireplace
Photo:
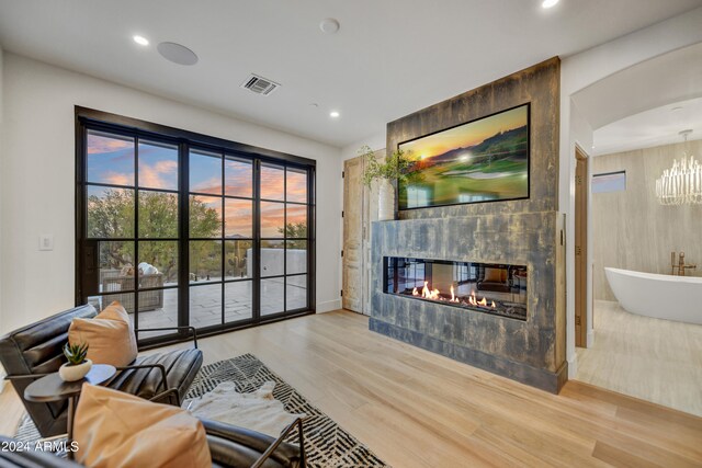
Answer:
M568 375L577 372L575 354L575 146L592 147L592 129L573 105L571 95L627 67L702 42L702 8L638 30L563 59L561 64L561 167L558 206L566 214L567 358ZM591 232L588 236L591 240ZM588 266L592 246L588 246ZM590 276L591 277L591 276ZM591 288L591 285L589 285ZM590 290L588 298L591 297ZM588 316L592 317L588 299ZM591 329L591 321L589 323Z

